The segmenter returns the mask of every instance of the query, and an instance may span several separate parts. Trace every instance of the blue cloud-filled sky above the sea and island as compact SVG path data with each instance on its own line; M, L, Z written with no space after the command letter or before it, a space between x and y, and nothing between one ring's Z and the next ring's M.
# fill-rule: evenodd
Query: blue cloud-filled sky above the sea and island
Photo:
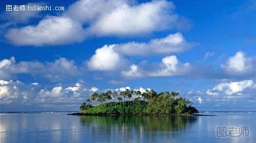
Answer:
M93 92L126 88L179 91L200 111L256 111L256 1L0 6L0 111L76 111Z

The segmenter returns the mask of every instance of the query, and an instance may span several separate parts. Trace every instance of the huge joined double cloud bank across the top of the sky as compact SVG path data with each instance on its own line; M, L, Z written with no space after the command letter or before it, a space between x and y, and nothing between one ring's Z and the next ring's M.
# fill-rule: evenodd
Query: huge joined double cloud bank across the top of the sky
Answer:
M129 0L80 0L71 4L68 11L46 16L37 25L8 29L5 37L18 46L42 46L80 42L93 35L141 35L184 25L174 8L172 2L165 0L140 4ZM14 16L28 21L37 13Z

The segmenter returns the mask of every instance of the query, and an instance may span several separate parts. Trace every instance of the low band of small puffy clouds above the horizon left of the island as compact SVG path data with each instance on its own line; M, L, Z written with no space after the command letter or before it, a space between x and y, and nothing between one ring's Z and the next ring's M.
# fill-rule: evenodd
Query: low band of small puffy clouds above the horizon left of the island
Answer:
M80 83L76 83L75 86L62 84L42 88L42 85L34 86L20 81L0 80L0 105L78 106L91 94L86 89Z

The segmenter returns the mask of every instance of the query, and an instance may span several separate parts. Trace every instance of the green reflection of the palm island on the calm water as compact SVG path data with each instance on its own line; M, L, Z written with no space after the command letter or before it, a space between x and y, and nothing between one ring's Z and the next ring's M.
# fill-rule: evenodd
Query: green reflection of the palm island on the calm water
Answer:
M190 128L196 123L196 116L81 116L80 123L89 128L92 136L103 133L113 138L155 138L166 136L172 138L177 133ZM168 140L167 139L167 140Z

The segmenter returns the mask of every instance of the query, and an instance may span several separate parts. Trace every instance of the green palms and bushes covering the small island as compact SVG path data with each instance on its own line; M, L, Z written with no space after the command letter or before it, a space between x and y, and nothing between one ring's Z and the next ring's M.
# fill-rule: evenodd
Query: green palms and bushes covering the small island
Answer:
M132 100L133 99L133 100ZM95 104L95 102L97 104ZM126 89L120 92L108 90L94 92L80 106L80 111L88 115L129 114L129 115L170 115L198 113L192 102L180 97L179 92L145 90L141 93Z

